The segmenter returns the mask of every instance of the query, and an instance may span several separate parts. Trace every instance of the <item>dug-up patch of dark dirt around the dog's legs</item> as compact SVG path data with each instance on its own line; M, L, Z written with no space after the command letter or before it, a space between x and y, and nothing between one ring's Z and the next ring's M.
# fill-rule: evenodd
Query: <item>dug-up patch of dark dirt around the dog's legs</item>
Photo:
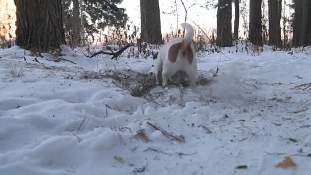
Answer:
M154 73L141 73L132 70L105 70L99 72L85 71L80 73L81 79L104 79L111 78L114 80L115 85L124 90L128 90L132 96L142 97L146 95L150 90L161 82L157 82ZM171 81L168 83L170 86L188 86L188 76L184 71L177 71L171 77ZM207 78L204 74L199 74L197 77L197 85L209 85L211 79Z

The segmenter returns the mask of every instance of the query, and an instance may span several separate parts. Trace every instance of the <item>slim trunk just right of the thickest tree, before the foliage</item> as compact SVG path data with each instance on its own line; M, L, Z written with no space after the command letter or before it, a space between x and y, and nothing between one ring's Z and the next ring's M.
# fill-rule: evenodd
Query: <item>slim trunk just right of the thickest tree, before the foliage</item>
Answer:
M79 0L73 0L73 44L74 46L81 45L81 18L80 18L80 7L79 7Z

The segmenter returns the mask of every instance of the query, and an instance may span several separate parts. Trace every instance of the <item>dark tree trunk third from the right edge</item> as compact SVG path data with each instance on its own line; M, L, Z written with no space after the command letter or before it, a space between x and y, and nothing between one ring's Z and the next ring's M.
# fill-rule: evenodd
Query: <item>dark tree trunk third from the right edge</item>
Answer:
M269 45L281 45L282 0L268 0L269 7Z

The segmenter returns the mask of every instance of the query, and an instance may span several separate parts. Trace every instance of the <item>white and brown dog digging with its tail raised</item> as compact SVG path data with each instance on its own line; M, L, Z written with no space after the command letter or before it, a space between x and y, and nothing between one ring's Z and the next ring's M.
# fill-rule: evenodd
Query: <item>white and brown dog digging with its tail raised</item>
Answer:
M196 52L191 45L193 38L193 27L188 23L181 26L186 29L185 38L174 38L160 49L156 62L156 78L162 85L166 86L168 80L177 71L185 71L188 76L190 87L196 82L197 65Z

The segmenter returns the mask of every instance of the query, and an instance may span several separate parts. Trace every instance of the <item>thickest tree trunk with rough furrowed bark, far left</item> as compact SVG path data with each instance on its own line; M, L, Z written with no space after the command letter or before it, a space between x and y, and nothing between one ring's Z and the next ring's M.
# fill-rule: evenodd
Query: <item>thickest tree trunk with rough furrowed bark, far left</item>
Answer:
M61 0L14 0L16 45L45 52L66 44Z

